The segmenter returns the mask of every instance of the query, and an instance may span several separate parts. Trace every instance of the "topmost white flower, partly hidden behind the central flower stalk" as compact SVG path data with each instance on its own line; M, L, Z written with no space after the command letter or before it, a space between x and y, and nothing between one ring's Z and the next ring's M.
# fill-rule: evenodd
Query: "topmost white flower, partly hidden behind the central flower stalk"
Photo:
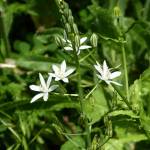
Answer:
M87 37L83 37L83 38L80 39L80 46L79 46L79 48L76 48L77 55L80 54L80 51L81 51L81 50L91 48L91 46L89 46L89 45L83 45L83 43L84 43L86 40L87 40ZM65 49L66 51L73 51L73 46L72 46L71 41L70 41L70 40L65 40L65 39L63 39L63 41L68 44L67 46L64 47L64 49Z

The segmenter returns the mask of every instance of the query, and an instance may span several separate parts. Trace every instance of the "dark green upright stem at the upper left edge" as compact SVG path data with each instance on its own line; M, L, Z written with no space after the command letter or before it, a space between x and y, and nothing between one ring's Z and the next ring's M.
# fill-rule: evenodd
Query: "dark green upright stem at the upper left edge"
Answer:
M5 57L9 56L10 53L10 43L9 43L9 39L8 39L8 33L6 31L6 26L5 26L5 22L4 22L4 18L5 18L5 12L0 11L0 27L1 27L1 32L2 32L2 37L3 37L3 41L4 41L4 45L5 45Z

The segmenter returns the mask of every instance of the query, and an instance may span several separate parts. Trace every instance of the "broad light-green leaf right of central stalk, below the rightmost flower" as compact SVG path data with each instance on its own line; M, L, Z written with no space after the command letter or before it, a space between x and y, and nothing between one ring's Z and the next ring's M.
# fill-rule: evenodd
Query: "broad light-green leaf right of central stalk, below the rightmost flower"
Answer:
M101 87L96 89L89 99L85 100L84 112L91 124L99 121L108 112L107 101Z

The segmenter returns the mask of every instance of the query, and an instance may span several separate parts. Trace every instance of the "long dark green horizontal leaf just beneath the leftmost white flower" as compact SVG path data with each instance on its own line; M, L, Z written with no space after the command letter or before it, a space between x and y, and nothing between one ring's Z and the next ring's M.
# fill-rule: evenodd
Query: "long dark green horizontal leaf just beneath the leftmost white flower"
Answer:
M0 105L1 111L8 110L38 110L38 109L48 109L49 111L60 111L64 108L75 108L79 109L79 104L77 102L69 102L65 97L62 96L50 96L49 101L37 101L35 103L30 103L29 101L17 101L8 102Z

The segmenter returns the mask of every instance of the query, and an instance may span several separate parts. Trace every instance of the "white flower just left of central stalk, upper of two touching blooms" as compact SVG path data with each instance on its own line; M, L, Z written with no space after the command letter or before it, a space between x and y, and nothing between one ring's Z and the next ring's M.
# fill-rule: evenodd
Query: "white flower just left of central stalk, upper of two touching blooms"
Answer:
M50 76L55 77L55 81L63 80L64 82L69 82L67 76L69 76L75 69L66 70L66 61L64 60L60 67L52 65L54 73L49 73Z

